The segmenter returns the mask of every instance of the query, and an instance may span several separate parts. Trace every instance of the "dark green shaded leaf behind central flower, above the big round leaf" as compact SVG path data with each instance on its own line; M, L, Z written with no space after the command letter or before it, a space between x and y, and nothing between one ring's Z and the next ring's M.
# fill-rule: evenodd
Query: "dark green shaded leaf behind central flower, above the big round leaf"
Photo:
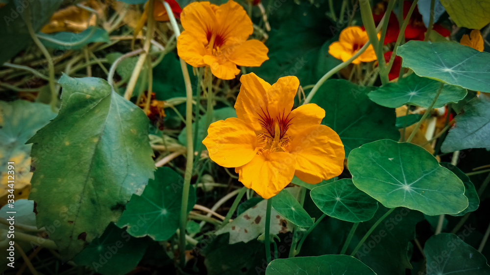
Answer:
M335 130L347 157L353 148L379 139L400 139L393 109L381 107L368 98L374 87L358 86L346 80L326 81L311 103L326 110L321 124ZM374 130L375 129L375 130Z

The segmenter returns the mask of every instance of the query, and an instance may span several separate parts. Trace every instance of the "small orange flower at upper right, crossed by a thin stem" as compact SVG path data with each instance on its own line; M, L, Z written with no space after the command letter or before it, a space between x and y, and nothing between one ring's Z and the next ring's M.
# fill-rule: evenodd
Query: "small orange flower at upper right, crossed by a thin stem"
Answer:
M328 47L328 53L343 62L356 54L368 42L368 34L361 27L346 27L340 33L339 41L333 42ZM376 60L374 48L369 45L364 53L354 59L352 63L371 62Z

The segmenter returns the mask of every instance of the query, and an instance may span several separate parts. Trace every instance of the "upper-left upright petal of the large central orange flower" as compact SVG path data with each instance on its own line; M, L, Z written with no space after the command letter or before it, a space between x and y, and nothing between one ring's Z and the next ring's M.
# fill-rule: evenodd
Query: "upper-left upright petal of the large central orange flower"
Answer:
M254 73L242 75L240 82L242 86L235 103L237 117L258 131L262 127L257 120L257 114L262 114L261 107L266 106L266 94L271 86Z

